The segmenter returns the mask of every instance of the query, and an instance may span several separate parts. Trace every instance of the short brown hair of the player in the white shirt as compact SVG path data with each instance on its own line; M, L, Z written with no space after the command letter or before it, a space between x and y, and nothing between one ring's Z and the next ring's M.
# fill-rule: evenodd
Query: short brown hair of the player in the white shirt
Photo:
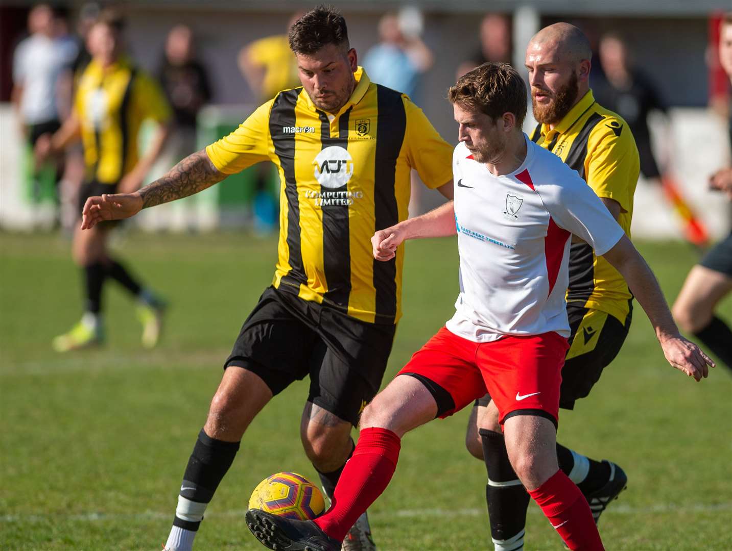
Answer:
M513 113L518 128L526 117L526 84L507 63L484 63L450 86L447 97L453 104L485 113L494 121Z

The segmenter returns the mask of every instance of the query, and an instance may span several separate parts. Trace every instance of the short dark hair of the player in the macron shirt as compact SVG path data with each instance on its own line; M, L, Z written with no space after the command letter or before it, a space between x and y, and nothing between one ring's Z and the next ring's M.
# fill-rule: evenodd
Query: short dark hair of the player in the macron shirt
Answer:
M305 13L290 27L290 49L310 55L328 44L348 50L348 28L343 15L332 6L321 4Z

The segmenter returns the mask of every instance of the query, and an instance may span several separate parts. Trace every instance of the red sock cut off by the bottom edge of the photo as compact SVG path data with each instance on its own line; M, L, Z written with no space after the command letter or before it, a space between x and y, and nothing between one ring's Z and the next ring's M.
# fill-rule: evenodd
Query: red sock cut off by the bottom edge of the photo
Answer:
M572 550L604 551L592 512L580 489L561 470L529 492Z

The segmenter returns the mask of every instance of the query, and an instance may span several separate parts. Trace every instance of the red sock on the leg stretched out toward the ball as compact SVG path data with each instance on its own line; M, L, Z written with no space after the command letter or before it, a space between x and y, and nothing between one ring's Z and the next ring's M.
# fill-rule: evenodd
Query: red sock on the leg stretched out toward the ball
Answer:
M397 468L400 447L400 438L391 430L363 429L354 455L340 474L330 509L315 519L315 524L343 542L351 526L386 490Z

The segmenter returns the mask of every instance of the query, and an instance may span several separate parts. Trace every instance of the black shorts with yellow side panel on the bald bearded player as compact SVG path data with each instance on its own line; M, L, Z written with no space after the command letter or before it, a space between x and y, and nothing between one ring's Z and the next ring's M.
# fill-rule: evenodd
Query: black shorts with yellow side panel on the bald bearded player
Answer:
M579 306L567 305L572 331L569 350L561 368L559 407L575 409L575 401L589 395L600 380L602 370L615 360L630 329L632 308L625 323L615 316ZM488 406L490 395L475 400L475 406Z

